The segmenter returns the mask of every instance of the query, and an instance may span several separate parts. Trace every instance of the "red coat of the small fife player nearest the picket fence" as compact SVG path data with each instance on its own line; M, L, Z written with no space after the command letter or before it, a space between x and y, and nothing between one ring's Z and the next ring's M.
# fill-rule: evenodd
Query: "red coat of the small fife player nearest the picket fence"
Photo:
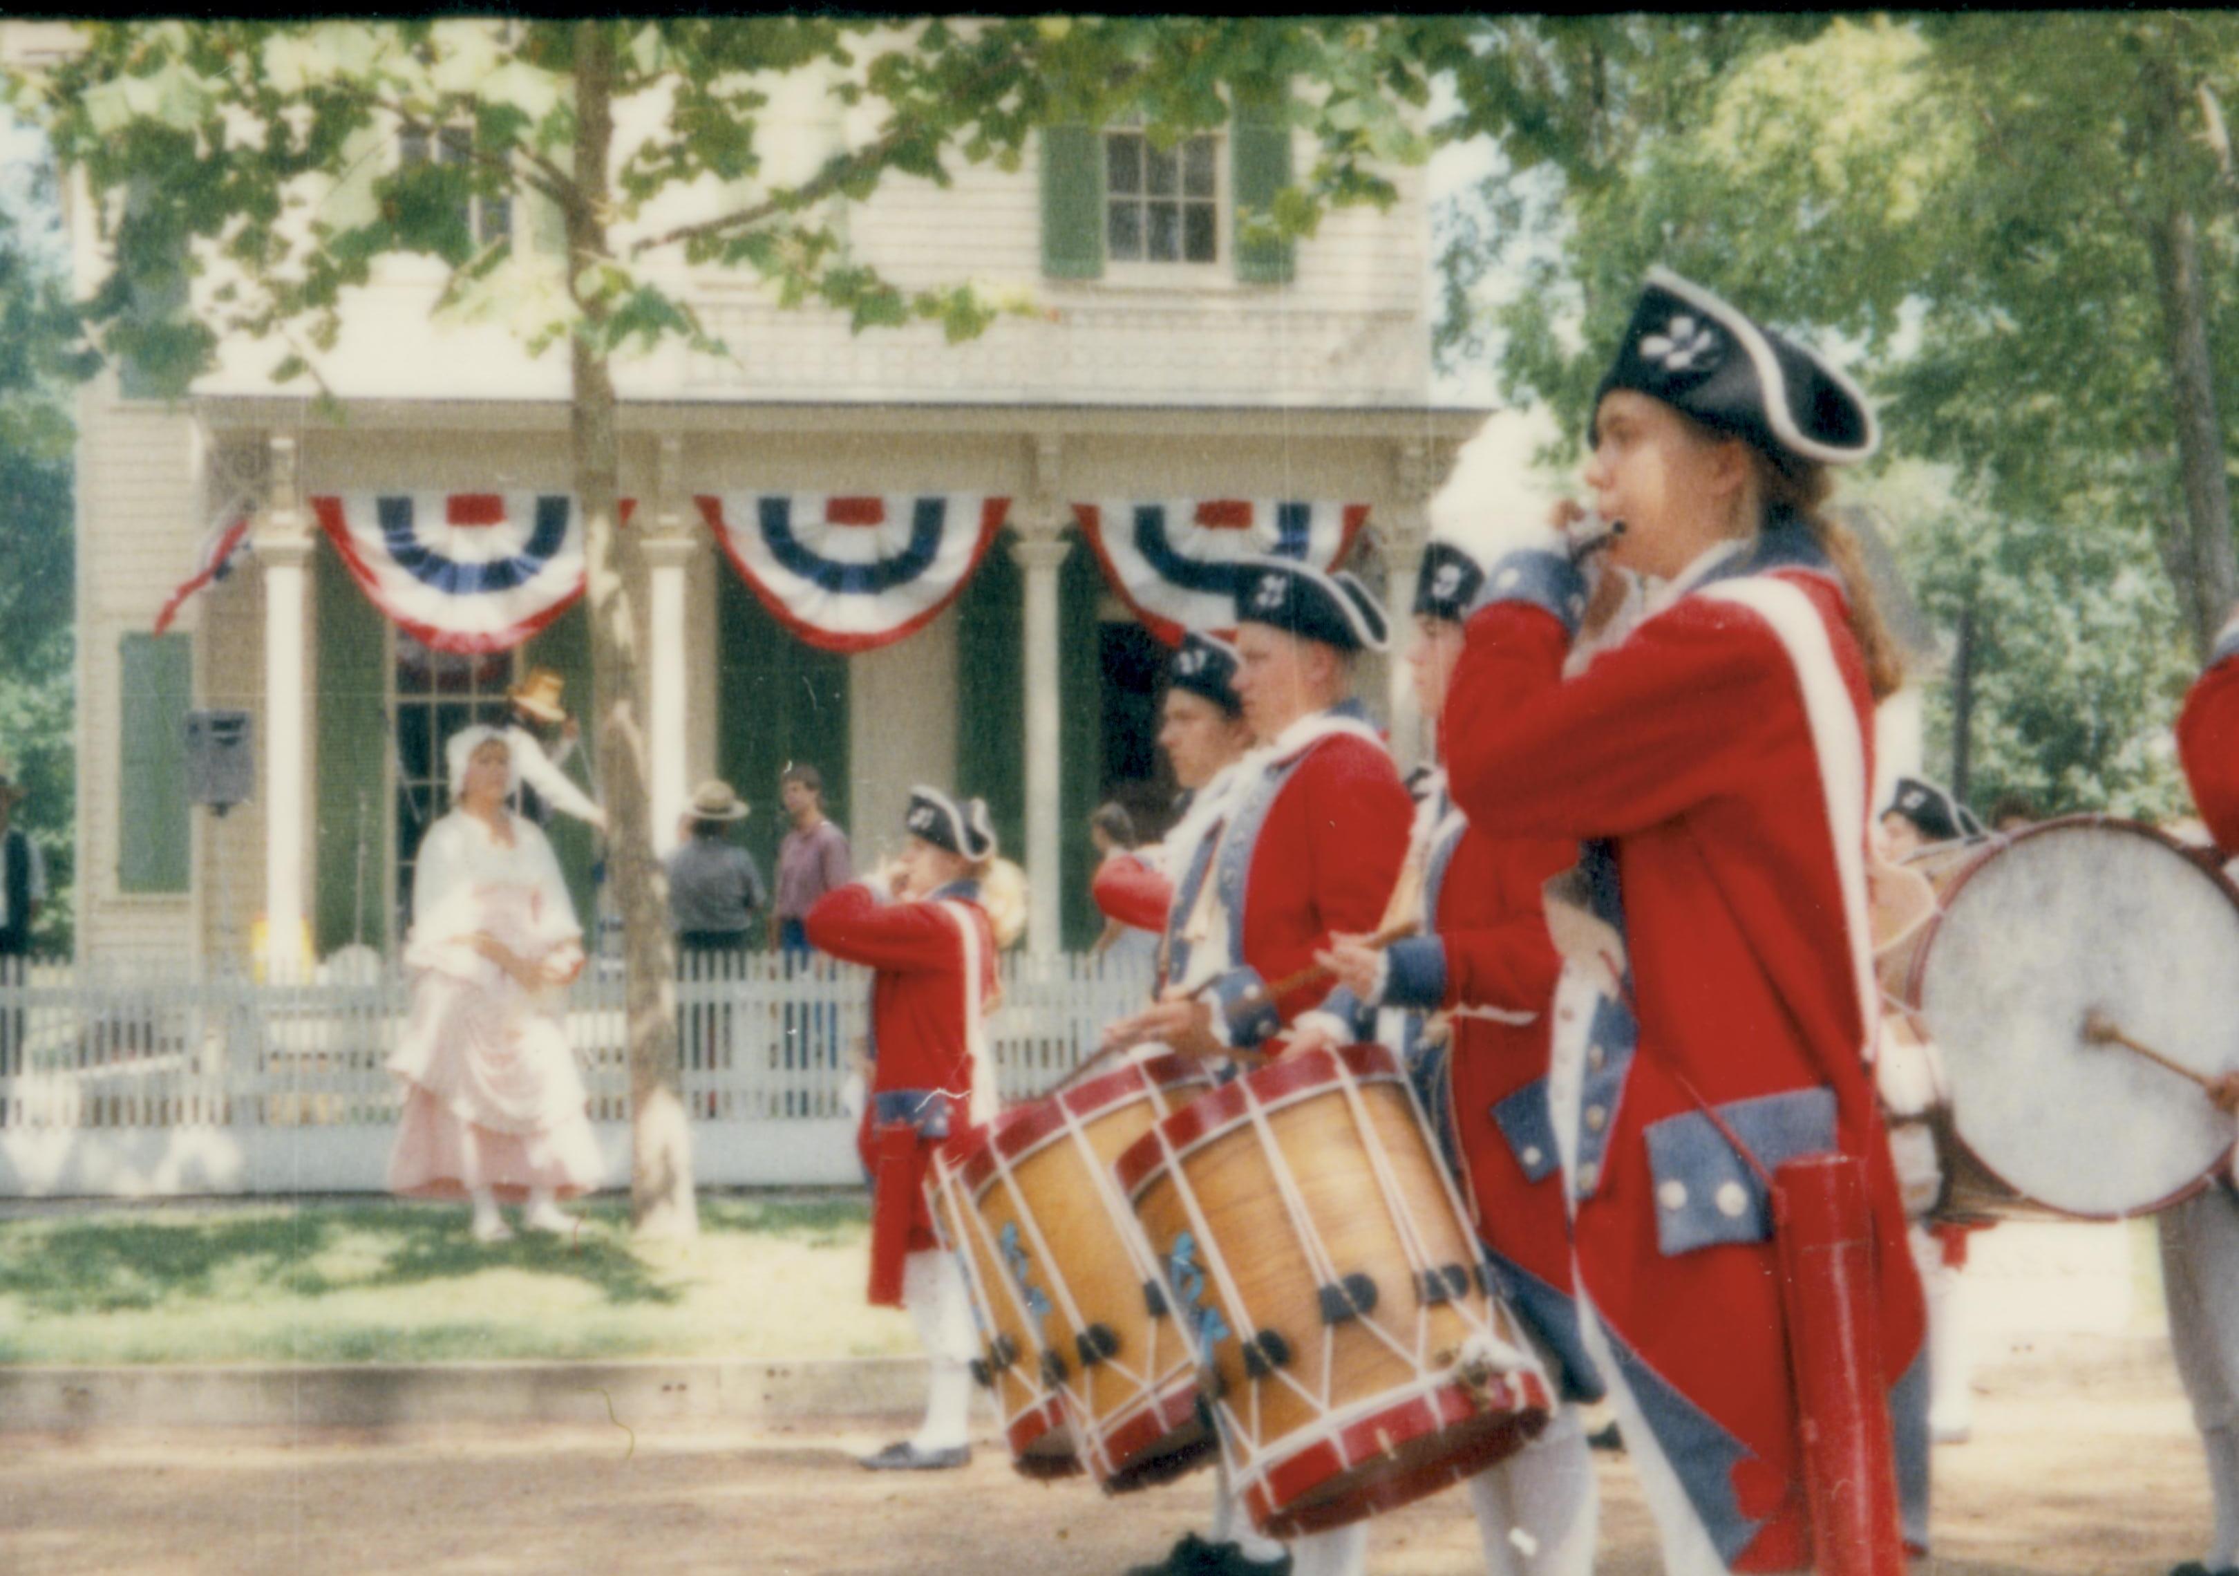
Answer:
M996 945L978 886L956 882L918 902L882 902L866 882L849 882L817 898L802 929L817 951L873 969L871 1099L855 1146L864 1169L875 1171L871 1128L920 1124L920 1175L891 1198L907 1198L911 1211L907 1251L936 1247L922 1169L943 1135L994 1115L994 1061L983 1025L996 985Z

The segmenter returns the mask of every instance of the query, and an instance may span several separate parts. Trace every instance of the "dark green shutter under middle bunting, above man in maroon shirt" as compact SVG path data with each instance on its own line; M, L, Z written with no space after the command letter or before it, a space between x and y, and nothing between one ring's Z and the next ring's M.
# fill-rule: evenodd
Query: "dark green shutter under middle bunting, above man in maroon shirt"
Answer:
M777 775L790 761L824 777L824 813L849 822L849 660L779 625L728 566L714 571L716 770L752 806L739 844L775 895L786 810ZM860 837L855 846L869 846Z

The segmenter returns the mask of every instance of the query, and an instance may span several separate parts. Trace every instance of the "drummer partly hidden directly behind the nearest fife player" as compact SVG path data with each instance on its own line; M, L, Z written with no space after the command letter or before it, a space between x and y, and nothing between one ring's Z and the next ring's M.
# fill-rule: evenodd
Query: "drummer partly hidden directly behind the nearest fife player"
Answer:
M1424 551L1408 663L1428 719L1444 707L1462 622L1482 587L1484 569L1462 546L1435 540ZM1610 587L1621 589L1617 580ZM1538 1439L1469 1480L1493 1576L1585 1576L1594 1567L1599 1507L1576 1404L1599 1401L1603 1383L1578 1336L1570 1216L1547 1108L1561 958L1540 900L1547 880L1576 857L1576 844L1565 839L1473 831L1446 795L1444 770L1433 772L1408 853L1411 875L1420 871L1422 880L1404 880L1395 893L1420 909L1422 934L1384 951L1364 936L1341 936L1321 960L1343 985L1299 1023L1301 1034L1321 1030L1343 1041L1361 1010L1444 1016L1446 1077L1424 1099L1505 1301L1570 1401Z

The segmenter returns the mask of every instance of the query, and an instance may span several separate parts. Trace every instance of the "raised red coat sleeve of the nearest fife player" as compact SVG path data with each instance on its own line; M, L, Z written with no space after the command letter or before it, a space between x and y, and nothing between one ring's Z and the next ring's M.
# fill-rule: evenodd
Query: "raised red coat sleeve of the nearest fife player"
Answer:
M1437 737L1471 826L1493 837L1619 837L1740 786L1793 723L1778 636L1688 598L1563 678L1570 638L1529 602L1469 620Z

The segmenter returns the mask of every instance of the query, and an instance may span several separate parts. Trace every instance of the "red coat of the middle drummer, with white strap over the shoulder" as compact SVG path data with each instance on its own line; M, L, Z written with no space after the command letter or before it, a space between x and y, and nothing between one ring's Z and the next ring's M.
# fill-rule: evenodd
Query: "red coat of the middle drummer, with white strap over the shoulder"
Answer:
M1377 927L1415 819L1390 752L1346 710L1301 719L1247 763L1256 770L1229 799L1220 844L1202 866L1225 916L1229 965L1211 969L1209 994L1227 1010L1238 1048L1276 1032L1236 1016L1252 985L1272 989L1312 967L1334 931ZM1173 900L1196 902L1187 878ZM1175 967L1184 983L1205 974L1196 958L1187 972ZM1325 994L1325 981L1296 985L1274 998L1270 1016L1287 1025Z

